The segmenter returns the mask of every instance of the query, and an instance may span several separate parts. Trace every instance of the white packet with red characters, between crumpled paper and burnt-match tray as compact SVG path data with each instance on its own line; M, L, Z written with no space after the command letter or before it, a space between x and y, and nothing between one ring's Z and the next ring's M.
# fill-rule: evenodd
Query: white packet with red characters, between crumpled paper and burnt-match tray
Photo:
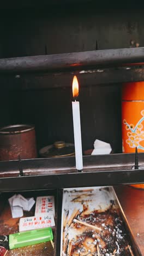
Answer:
M35 216L41 214L51 214L55 217L54 196L38 196L35 206Z

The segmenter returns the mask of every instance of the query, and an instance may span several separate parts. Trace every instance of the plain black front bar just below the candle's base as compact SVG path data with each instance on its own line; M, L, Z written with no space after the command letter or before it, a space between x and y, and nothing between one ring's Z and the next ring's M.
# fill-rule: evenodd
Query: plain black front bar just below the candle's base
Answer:
M59 173L0 179L0 191L93 187L144 183L144 170L114 170L83 173Z

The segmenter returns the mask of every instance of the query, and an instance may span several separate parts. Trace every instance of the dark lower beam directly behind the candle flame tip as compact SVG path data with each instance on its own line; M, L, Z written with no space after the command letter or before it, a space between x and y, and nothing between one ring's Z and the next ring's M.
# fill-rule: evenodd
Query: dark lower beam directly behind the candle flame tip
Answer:
M143 81L144 66L101 68L53 74L1 74L0 84L3 85L3 89L10 90L68 88L71 87L74 74L79 78L80 87L117 84Z

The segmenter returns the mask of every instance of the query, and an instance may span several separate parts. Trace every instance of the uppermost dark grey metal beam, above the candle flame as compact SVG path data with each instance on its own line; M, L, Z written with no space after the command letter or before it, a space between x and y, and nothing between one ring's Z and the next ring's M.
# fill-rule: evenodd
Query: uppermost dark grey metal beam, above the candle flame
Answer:
M0 72L56 72L124 65L144 60L144 48L124 48L79 53L16 57L0 60Z

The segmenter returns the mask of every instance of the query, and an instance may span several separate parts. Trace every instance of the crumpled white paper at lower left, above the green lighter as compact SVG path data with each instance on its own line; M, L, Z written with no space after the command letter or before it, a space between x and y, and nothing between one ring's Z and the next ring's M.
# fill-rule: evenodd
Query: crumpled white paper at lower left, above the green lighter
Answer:
M13 218L20 218L23 216L24 211L30 211L35 201L33 197L26 199L22 195L14 195L9 198L9 204L11 208L11 215Z

